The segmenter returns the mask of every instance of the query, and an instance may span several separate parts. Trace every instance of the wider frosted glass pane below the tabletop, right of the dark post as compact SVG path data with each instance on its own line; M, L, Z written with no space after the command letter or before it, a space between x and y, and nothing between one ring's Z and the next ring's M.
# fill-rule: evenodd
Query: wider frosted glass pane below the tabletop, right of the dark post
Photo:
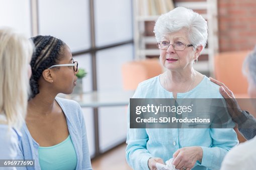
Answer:
M126 140L126 107L99 108L100 150L104 152Z

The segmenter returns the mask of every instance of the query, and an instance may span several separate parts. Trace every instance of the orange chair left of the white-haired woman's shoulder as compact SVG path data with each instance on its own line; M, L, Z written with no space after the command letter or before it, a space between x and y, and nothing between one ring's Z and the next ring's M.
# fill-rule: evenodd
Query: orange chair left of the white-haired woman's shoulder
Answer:
M123 88L135 90L138 84L162 73L159 59L145 59L122 65Z

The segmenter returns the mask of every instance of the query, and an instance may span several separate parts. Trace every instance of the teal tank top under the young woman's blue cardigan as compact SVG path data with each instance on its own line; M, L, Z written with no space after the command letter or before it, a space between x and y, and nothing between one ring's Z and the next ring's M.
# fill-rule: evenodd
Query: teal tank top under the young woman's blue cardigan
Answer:
M42 170L71 170L76 167L77 158L70 135L54 146L39 146L38 155Z

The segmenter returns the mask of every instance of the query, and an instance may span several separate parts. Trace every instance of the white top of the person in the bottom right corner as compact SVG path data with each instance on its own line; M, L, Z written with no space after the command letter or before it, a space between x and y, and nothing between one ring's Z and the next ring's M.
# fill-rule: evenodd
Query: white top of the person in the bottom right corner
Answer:
M256 162L256 137L232 148L225 156L221 170L254 169Z

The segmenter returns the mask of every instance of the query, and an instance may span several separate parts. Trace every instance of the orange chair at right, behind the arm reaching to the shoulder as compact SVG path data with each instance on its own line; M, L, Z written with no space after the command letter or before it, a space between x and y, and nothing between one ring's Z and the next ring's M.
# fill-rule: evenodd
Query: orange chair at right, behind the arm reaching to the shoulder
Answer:
M235 95L236 98L249 98L247 95L248 83L242 74L242 64L249 51L223 52L215 56L215 78L224 83ZM246 99L237 99L241 109L250 113L254 112L253 107ZM240 102L239 102L240 101ZM235 128L239 142L246 139Z

